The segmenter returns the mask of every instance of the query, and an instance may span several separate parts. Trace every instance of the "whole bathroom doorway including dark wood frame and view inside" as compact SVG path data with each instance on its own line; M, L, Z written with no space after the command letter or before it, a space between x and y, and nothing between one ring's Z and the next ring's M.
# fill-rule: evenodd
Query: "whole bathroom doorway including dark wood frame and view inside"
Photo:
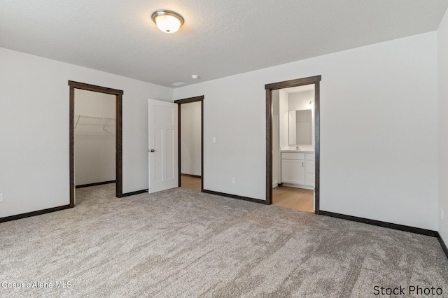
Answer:
M267 204L319 213L320 81L314 76L265 85ZM283 104L274 106L276 101Z

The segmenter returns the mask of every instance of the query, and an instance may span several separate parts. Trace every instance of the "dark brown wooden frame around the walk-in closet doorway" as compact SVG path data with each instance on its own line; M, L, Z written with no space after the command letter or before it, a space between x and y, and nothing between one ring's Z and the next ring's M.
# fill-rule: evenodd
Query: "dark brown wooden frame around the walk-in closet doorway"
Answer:
M73 82L69 80L70 108L69 108L69 159L70 159L70 208L75 206L75 173L74 173L74 125L75 89L87 90L116 96L116 196L123 197L123 90Z

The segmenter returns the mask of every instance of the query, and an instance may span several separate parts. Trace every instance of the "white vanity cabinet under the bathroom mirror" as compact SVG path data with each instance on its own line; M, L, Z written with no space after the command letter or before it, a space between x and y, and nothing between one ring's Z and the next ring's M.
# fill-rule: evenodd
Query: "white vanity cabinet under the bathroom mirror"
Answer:
M281 183L314 188L314 152L281 152Z

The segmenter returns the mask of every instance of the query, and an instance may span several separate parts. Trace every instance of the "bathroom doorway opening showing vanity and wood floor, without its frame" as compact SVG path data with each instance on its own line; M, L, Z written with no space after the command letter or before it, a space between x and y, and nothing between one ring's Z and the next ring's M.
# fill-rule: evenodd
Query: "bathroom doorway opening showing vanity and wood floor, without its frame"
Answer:
M272 91L272 204L314 212L314 84Z

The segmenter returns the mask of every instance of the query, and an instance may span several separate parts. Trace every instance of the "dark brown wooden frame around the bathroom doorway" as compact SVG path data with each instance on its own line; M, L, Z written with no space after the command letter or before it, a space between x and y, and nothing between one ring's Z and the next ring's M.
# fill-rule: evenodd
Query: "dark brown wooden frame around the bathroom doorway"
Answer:
M319 192L320 192L320 156L321 156L321 134L320 134L320 87L321 76L310 76L296 80L265 85L266 90L266 204L272 204L272 90L289 87L314 84L314 157L315 157L315 180L314 180L314 213L319 214Z

